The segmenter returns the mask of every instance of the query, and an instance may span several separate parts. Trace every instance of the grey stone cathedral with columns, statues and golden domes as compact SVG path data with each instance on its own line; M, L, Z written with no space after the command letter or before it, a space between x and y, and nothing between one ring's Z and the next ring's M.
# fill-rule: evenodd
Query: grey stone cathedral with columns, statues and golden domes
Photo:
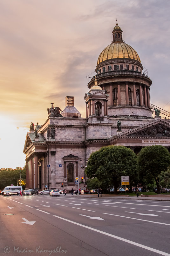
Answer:
M124 43L116 23L112 43L99 54L96 75L85 93L86 117L66 97L66 107L48 109L42 126L33 123L26 135L26 188L76 189L90 154L102 146L124 145L136 154L162 145L170 150L170 116L150 102L151 79L143 72L138 53ZM34 176L35 174L35 176Z

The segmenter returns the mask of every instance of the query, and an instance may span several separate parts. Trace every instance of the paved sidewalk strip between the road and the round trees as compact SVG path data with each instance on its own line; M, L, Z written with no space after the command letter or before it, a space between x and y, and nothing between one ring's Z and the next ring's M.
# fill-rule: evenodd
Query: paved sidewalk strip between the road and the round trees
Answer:
M76 197L76 196L75 196ZM98 198L97 194L81 194L77 196L85 198ZM170 195L141 195L139 197L131 197L129 195L105 195L102 194L102 198L112 198L112 199L135 199L135 200L155 200L155 201L170 201Z

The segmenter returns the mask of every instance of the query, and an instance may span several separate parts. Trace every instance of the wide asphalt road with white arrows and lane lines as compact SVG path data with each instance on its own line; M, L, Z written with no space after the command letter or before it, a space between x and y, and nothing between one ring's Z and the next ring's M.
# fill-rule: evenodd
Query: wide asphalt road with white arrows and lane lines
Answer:
M170 256L168 201L67 194L0 196L0 206L3 256Z

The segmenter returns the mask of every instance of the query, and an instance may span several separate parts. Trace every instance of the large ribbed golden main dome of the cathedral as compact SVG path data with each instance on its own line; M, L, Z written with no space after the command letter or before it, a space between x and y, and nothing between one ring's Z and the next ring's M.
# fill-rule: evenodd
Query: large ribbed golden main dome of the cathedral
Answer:
M105 47L99 55L97 64L108 59L119 58L135 59L141 63L138 53L130 45L118 41Z

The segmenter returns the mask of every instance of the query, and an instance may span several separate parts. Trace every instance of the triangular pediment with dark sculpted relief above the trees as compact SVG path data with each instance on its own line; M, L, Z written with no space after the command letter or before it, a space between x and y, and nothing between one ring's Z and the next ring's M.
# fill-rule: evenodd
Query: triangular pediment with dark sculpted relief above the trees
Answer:
M135 128L120 137L170 137L170 123L166 121L153 121L145 126Z

